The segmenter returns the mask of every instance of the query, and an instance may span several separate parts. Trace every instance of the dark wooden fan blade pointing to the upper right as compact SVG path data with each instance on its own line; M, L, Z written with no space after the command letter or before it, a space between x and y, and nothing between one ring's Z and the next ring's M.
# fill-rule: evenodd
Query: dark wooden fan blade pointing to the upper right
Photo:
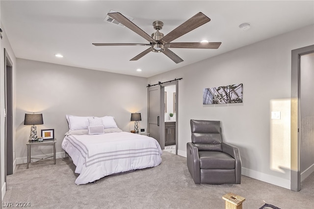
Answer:
M162 38L162 41L169 43L184 35L185 33L190 32L191 30L194 30L195 28L205 23L208 23L209 21L210 19L206 15L204 15L202 12L199 12L187 21L185 21L183 24L179 25L173 31L165 35Z

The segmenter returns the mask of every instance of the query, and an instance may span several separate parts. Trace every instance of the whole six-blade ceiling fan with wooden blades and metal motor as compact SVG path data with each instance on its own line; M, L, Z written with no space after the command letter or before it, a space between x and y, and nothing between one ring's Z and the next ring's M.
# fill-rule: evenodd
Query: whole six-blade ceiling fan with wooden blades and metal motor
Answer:
M109 17L115 19L119 23L125 25L147 41L149 41L149 44L93 44L94 46L149 46L148 49L141 52L140 54L133 57L130 61L138 60L144 55L148 54L149 52L162 52L166 56L168 56L171 60L173 60L175 63L180 63L183 61L177 54L175 54L173 51L171 51L169 48L209 48L209 49L217 49L221 42L211 42L211 43L199 43L199 42L188 42L188 43L172 43L173 40L179 38L180 36L184 35L185 33L190 32L191 30L194 30L195 28L208 23L210 19L204 15L202 12L197 13L181 25L179 25L177 28L172 30L167 35L163 35L159 32L159 30L162 29L163 23L161 21L155 21L153 23L154 29L157 30L155 33L152 34L152 36L148 35L146 32L144 32L141 28L139 28L137 25L132 23L128 18L123 16L119 12L113 12L107 14Z

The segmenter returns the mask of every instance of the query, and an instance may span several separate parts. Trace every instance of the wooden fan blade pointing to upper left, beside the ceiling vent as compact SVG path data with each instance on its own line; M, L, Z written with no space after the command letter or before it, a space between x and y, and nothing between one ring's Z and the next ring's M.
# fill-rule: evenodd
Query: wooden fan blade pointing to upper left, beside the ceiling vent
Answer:
M121 13L119 12L113 12L113 13L108 13L107 14L109 17L115 19L119 23L125 25L138 35L142 36L144 39L146 39L149 42L157 43L155 39L153 39L150 35L145 33L141 28L139 28L137 25L132 23L128 18L124 17Z

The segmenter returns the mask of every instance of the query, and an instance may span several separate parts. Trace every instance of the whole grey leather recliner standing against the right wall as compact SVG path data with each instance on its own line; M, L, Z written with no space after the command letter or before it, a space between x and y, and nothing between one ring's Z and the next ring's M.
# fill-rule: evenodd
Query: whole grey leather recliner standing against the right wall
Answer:
M222 142L220 121L190 120L187 167L195 184L241 184L237 147Z

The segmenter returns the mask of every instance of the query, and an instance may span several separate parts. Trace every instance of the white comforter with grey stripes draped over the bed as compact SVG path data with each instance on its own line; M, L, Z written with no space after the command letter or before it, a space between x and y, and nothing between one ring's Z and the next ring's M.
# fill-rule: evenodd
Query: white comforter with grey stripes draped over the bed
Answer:
M69 135L62 148L77 166L77 185L94 182L104 176L161 163L161 148L156 139L128 132L100 135Z

